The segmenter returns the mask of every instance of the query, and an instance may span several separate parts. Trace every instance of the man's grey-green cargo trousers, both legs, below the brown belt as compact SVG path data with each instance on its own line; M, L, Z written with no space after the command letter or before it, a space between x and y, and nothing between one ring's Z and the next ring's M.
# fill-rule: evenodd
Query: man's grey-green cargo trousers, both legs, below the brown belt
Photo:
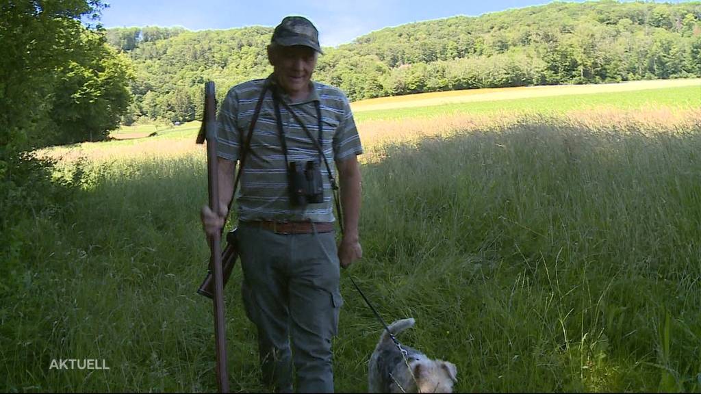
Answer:
M298 392L332 393L331 339L343 304L334 233L277 234L245 223L239 231L241 292L258 328L263 383L292 392L294 364Z

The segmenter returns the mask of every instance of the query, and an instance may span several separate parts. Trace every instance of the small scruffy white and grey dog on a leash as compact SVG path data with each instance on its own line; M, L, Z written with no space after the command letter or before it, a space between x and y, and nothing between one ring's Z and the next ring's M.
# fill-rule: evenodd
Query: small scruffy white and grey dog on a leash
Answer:
M397 320L390 326L393 335L414 326L414 319ZM431 360L409 346L406 360L385 330L370 357L370 393L452 393L458 369L452 362ZM408 364L408 367L407 367Z

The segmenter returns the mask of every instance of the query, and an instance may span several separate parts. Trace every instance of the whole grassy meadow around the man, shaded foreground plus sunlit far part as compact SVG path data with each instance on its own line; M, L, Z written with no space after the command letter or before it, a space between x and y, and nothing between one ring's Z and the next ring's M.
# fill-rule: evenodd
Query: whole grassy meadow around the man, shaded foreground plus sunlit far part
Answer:
M701 85L355 111L364 257L341 273L337 391L367 389L381 333L350 276L385 320L416 318L400 341L454 362L458 392L701 391ZM7 235L2 390L216 390L205 152L179 127L43 152L83 183ZM231 390L262 391L240 276Z

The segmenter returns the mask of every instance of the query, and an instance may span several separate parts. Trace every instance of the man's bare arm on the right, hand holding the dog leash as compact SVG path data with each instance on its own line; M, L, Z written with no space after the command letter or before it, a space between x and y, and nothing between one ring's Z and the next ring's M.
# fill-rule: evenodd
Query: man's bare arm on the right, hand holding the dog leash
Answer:
M360 165L358 157L351 155L346 160L336 162L341 186L343 206L343 238L339 245L339 260L346 268L362 257L358 222L360 220Z

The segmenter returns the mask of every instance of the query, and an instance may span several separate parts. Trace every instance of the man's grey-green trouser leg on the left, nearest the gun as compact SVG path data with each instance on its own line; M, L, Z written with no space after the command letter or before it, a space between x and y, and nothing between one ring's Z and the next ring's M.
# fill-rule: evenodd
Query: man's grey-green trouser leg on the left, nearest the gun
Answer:
M241 226L239 250L246 315L258 328L263 384L275 393L292 393L287 275L289 243L285 237Z

